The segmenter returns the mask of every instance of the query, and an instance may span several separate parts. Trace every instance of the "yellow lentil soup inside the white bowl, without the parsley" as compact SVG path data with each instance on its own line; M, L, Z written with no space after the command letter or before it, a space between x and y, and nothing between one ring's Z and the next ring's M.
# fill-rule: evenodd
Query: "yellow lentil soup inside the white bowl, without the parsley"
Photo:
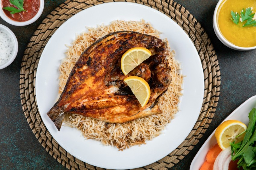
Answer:
M256 46L256 27L243 27L246 22L239 20L238 24L230 19L231 11L240 14L242 9L251 7L253 13L256 11L256 0L223 0L217 11L218 28L227 41L239 47ZM254 15L254 20L256 14Z

